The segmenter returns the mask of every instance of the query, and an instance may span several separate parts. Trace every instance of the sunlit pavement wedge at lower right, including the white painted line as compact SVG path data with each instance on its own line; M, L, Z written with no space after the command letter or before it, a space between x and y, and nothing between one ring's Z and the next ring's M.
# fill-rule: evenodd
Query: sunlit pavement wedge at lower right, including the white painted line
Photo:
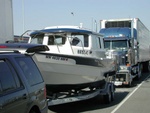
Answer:
M147 75L111 113L150 112L150 75Z

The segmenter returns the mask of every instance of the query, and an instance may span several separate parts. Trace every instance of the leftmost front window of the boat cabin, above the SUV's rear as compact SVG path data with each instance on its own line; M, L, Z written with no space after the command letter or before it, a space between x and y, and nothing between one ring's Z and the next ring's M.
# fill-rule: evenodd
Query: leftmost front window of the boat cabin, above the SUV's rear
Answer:
M42 44L44 39L44 34L34 35L32 36L32 44Z

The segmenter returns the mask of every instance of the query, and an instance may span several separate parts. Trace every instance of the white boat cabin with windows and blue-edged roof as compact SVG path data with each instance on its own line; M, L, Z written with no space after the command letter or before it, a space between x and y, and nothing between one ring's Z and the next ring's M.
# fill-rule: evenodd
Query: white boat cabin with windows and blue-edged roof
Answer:
M78 26L56 26L32 32L32 44L47 45L51 53L104 58L103 36Z

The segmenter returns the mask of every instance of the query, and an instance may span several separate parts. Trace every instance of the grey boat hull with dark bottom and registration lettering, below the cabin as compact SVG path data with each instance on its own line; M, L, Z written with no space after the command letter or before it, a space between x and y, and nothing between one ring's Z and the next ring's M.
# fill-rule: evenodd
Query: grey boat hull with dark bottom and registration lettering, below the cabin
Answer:
M52 92L100 87L105 83L104 73L109 71L100 59L61 54L35 54L47 89Z

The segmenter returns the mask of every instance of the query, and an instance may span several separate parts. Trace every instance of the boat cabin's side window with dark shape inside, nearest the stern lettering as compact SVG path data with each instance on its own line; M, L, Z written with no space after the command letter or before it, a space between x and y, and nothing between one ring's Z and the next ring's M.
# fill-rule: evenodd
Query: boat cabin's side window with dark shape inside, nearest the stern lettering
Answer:
M71 45L79 46L79 47L88 47L89 46L88 35L72 34L71 37L72 37Z

